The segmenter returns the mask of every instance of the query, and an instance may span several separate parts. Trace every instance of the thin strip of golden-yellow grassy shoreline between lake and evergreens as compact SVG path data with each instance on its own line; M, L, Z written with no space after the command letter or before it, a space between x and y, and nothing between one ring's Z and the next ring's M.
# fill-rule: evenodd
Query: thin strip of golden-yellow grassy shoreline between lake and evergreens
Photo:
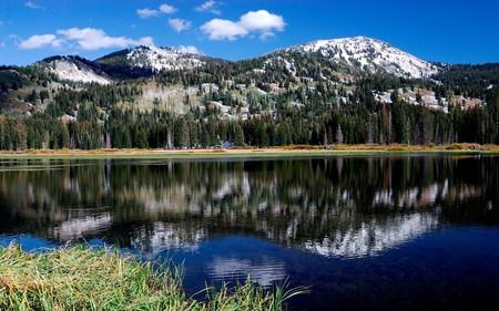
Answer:
M328 147L292 145L269 148L243 147L227 149L30 149L21 152L0 152L0 158L257 158L404 154L496 155L499 154L499 145L332 145Z

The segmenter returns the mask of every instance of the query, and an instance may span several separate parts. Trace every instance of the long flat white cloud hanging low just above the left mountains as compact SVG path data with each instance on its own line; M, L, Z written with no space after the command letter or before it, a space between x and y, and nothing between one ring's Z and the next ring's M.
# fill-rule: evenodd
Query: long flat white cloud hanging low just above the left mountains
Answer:
M71 28L58 30L57 33L61 34L65 40L77 41L80 49L89 51L153 44L153 39L151 37L144 37L140 40L133 40L125 37L109 37L103 30L94 28Z

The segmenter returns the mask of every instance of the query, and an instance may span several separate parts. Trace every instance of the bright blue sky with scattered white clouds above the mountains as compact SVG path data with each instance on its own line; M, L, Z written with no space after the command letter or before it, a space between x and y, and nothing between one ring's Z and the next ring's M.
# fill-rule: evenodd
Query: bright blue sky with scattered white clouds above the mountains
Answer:
M0 0L0 64L154 43L241 60L365 35L427 61L499 62L499 1Z

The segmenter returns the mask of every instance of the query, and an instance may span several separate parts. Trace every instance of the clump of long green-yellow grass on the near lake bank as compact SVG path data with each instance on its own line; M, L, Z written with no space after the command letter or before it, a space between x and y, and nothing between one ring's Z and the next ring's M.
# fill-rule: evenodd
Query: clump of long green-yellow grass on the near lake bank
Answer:
M118 250L84 246L26 252L0 248L0 310L283 310L306 289L264 290L246 280L187 298L182 273Z

